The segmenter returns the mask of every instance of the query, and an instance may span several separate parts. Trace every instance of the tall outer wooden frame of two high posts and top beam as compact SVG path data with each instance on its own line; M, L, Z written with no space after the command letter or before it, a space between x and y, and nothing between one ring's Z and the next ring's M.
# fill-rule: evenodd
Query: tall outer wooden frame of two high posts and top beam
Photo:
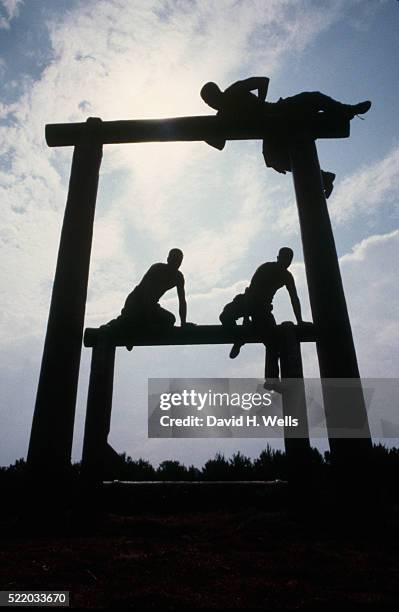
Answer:
M367 422L314 142L317 138L348 137L349 120L332 120L323 114L311 121L288 121L285 117L274 116L261 123L247 121L238 124L221 121L215 116L116 122L90 118L86 123L46 126L49 146L74 146L74 154L29 444L28 463L33 469L60 475L70 465L103 144L204 141L211 137L267 139L268 136L281 137L290 152L322 381L337 377L358 379L357 401L351 410L360 420ZM112 350L114 355L115 347ZM113 372L112 350L103 352L102 357L99 349L93 351L93 363L102 363L101 360L105 359L110 376ZM99 367L96 365L95 369ZM105 367L104 363L101 367ZM284 358L282 367L286 367ZM327 386L323 387L323 393L327 430L331 431L329 415L334 413L333 400ZM92 384L90 394L91 397L93 394L99 396ZM336 440L331 435L329 439L333 454L343 461L354 452L371 448L370 436L356 441L362 443L356 448L352 441L348 444L348 440Z

